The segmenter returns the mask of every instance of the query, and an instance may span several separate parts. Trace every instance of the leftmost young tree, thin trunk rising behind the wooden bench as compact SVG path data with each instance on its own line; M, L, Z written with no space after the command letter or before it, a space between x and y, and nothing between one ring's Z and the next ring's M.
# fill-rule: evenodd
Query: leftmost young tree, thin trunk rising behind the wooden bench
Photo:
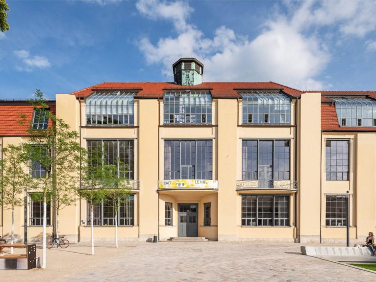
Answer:
M12 209L12 231L10 243L14 244L14 208L24 205L24 189L31 185L30 176L25 173L23 154L21 146L8 145L2 150L3 159L1 160L1 187L2 197L1 205ZM11 248L13 254L13 248Z

